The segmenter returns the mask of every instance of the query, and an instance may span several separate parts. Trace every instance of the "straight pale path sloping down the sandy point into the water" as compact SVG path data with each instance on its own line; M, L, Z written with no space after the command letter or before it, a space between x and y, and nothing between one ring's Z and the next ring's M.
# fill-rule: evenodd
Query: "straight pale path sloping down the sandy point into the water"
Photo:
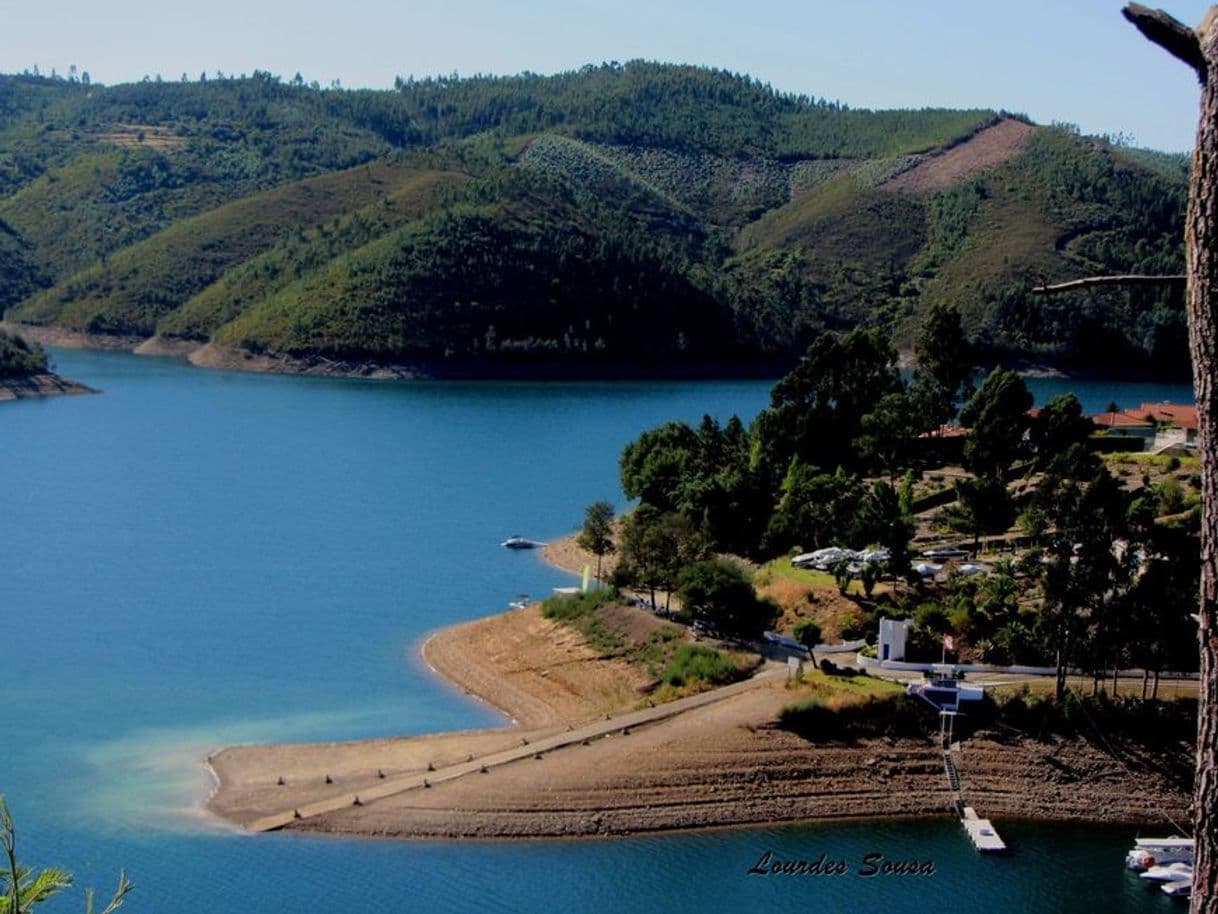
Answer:
M646 724L654 724L659 720L666 720L688 710L693 710L694 708L703 708L708 704L715 704L716 702L731 698L732 696L742 692L760 689L770 682L773 682L775 680L784 678L786 675L786 664L767 664L766 668L756 675L739 682L732 682L731 685L722 686L721 689L713 689L709 692L698 692L697 695L691 695L686 698L677 698L676 701L666 702L665 704L658 704L654 708L627 712L607 720L593 720L590 724L582 724L564 732L555 734L554 736L547 736L536 740L535 742L523 743L510 749L492 752L487 756L476 757L469 762L459 762L454 765L446 765L445 768L438 768L435 771L390 778L358 792L353 791L351 793L343 793L342 796L320 799L315 803L307 803L298 809L287 809L280 813L264 815L248 823L245 827L248 831L274 831L300 819L311 819L324 813L347 809L356 806L357 797L359 799L359 804L367 804L376 799L392 797L397 793L404 793L408 790L421 790L425 785L434 786L436 784L443 784L445 781L456 780L457 778L464 778L468 774L482 773L484 770L490 770L491 768L498 768L499 765L519 762L523 758L532 758L538 752L553 752L565 746L582 743L585 740L596 740L613 732L621 732L627 728L643 726Z

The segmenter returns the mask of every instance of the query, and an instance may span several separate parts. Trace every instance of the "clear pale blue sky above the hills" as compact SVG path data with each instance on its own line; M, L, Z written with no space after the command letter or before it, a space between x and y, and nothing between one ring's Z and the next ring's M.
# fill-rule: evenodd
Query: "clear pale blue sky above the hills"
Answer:
M854 107L993 107L1192 145L1197 88L1110 0L0 0L0 71L202 69L387 88L636 57L749 73ZM1190 26L1208 4L1177 0ZM16 7L16 9L4 9Z

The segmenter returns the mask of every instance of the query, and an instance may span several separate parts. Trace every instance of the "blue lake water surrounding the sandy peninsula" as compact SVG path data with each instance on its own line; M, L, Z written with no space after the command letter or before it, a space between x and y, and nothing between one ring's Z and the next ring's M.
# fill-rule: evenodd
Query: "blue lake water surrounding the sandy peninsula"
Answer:
M1122 870L1128 829L951 821L587 842L236 835L197 812L207 752L493 725L418 661L432 629L570 583L498 547L621 505L641 430L749 418L767 381L409 383L244 375L56 351L104 396L0 406L0 792L27 863L133 912L1169 910ZM1038 400L1062 383L1032 383ZM1074 385L1186 400L1186 385ZM765 852L932 859L933 876L756 876ZM1080 874L1083 874L1080 876ZM51 910L83 909L79 892Z

